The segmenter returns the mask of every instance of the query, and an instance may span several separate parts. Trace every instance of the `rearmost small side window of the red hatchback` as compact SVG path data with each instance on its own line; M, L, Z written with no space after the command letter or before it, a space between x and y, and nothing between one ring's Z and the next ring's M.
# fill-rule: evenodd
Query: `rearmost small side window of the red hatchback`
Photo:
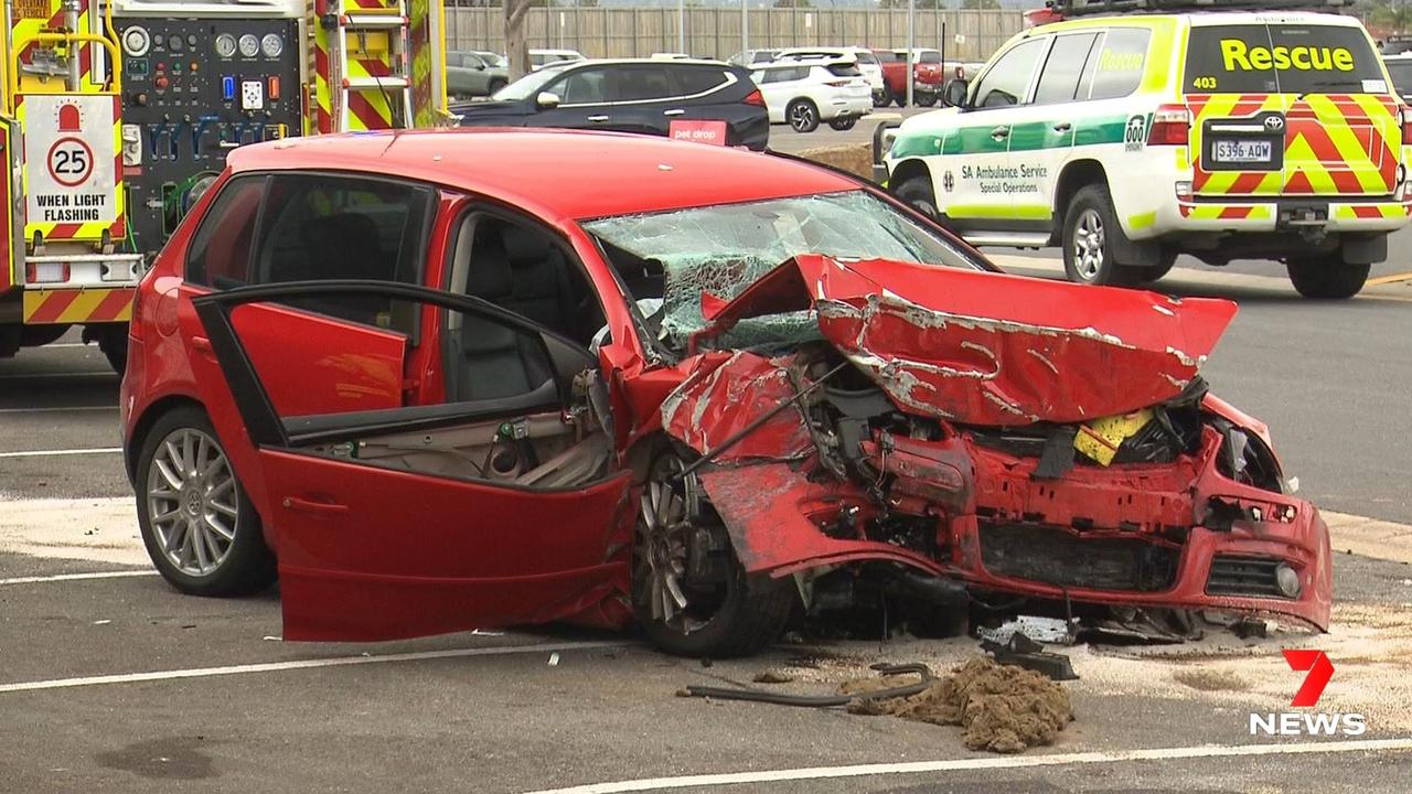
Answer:
M236 177L212 202L186 249L186 281L217 290L246 284L264 177Z

